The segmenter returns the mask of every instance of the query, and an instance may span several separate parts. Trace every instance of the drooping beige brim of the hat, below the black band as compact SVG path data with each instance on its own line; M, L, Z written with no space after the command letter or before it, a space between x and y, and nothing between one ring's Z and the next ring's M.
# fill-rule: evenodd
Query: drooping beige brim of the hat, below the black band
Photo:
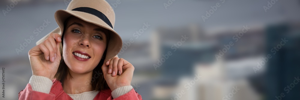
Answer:
M85 13L85 12L70 11L70 10L58 10L58 11L56 11L54 17L55 17L56 23L58 24L59 27L54 29L50 33L58 33L59 35L62 36L62 32L64 31L64 21L67 18L69 18L70 16L78 17L81 20L84 20L88 23L93 23L93 24L98 25L98 26L100 26L104 29L107 29L109 31L110 40L109 40L108 45L107 45L107 54L106 54L106 58L105 58L104 62L106 62L107 60L113 58L114 56L116 56L120 52L120 50L122 48L122 39L118 35L118 33L115 32L113 30L113 28L111 28L109 25L107 25L107 23L105 23L100 18L96 17L95 15L88 14L88 13ZM49 34L47 34L42 39L37 41L36 45L43 42L49 36Z

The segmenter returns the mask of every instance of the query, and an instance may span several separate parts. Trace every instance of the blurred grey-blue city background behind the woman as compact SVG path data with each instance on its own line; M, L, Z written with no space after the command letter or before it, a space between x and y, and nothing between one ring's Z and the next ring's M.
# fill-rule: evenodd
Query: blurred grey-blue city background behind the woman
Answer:
M18 99L32 76L28 51L70 2L13 1L0 1L1 100ZM107 2L123 40L118 56L134 65L131 84L144 100L300 99L300 0Z

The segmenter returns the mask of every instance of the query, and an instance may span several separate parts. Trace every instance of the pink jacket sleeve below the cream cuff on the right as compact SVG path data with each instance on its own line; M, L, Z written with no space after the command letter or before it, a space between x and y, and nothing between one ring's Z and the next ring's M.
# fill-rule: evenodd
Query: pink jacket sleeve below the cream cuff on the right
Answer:
M113 96L107 98L107 100L143 100L142 96L138 94L134 89L131 89L128 93L121 95L113 99Z

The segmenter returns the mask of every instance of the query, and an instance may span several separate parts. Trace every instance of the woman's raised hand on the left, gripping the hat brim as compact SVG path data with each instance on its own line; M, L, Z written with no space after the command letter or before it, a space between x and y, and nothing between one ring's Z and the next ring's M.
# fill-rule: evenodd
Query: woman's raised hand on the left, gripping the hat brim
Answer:
M29 50L33 75L48 77L50 80L54 78L61 60L60 42L61 36L51 33L45 41Z

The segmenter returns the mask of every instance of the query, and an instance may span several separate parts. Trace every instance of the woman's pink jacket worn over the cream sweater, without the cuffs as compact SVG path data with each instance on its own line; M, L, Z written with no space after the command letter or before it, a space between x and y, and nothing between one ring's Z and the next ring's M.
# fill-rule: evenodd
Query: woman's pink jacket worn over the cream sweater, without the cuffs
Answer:
M132 89L128 93L113 99L111 90L100 91L94 100L143 100L142 96ZM64 92L61 86L61 82L53 80L50 93L43 93L33 91L31 85L28 83L25 89L19 92L19 100L73 100L67 93Z

